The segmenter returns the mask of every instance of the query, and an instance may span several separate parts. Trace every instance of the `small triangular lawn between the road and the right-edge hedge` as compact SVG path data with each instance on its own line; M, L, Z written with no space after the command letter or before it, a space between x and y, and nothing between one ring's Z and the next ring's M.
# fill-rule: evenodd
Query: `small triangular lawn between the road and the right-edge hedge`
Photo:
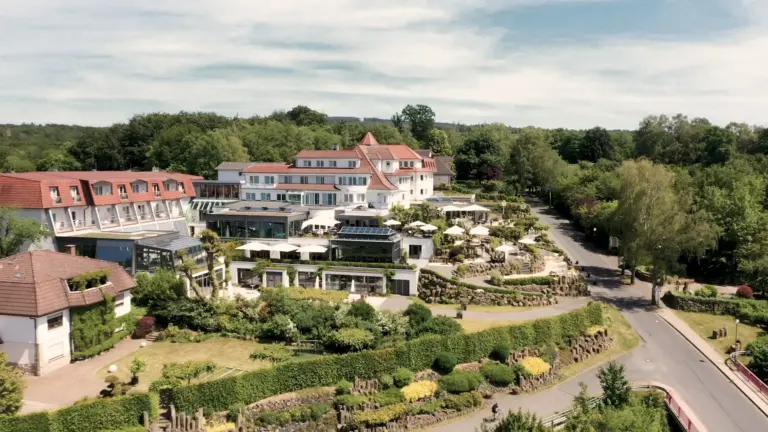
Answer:
M728 348L736 342L736 318L727 315L712 315L698 312L674 311L675 315L688 324L702 339L706 340L712 348L716 349L723 358L727 358ZM725 327L728 330L728 336L721 339L712 339L712 330ZM739 324L739 340L741 347L745 349L750 342L753 342L759 336L765 334L760 327ZM745 358L739 358L740 361L748 361Z

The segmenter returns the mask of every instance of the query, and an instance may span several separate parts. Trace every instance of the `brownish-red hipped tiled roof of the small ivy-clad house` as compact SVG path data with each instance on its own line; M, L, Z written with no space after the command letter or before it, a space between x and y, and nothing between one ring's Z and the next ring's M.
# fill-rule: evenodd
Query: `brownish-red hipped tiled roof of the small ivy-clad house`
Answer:
M99 289L70 292L67 280L95 270L110 271ZM117 263L53 251L31 251L0 259L0 315L39 317L69 307L103 301L133 289L133 279Z

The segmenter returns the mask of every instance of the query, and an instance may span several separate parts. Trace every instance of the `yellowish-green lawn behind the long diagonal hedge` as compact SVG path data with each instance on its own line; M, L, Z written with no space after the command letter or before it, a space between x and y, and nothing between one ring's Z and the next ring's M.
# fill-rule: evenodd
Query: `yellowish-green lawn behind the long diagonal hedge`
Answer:
M118 368L115 375L124 381L129 381L131 377L129 368L135 357L147 363L146 371L139 374L138 390L147 390L152 381L161 377L164 363L210 360L220 368L214 372L217 375L227 373L227 369L230 368L235 370L229 373L237 373L237 370L254 370L271 366L270 362L249 358L258 345L259 343L254 341L223 337L200 343L155 342L118 360L115 363ZM98 375L101 377L109 375L107 367L101 369Z

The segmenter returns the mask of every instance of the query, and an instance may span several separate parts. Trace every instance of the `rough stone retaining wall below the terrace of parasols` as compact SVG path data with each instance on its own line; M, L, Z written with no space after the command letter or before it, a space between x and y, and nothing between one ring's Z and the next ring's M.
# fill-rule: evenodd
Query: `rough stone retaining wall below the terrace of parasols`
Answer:
M445 279L429 271L422 270L419 276L419 298L430 303L493 306L549 306L557 303L557 297L554 296L530 292L516 293L513 290L509 290L509 294L506 294L489 292L481 287L478 289L463 286L459 282Z

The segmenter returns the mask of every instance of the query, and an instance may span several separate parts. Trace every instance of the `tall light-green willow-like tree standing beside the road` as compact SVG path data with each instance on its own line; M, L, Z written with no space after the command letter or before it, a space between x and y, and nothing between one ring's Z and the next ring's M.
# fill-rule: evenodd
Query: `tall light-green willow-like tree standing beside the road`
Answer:
M697 211L674 189L674 174L647 160L626 161L618 169L620 191L615 227L621 253L634 264L653 266L652 299L679 269L683 253L702 256L715 246L718 230L706 212Z

